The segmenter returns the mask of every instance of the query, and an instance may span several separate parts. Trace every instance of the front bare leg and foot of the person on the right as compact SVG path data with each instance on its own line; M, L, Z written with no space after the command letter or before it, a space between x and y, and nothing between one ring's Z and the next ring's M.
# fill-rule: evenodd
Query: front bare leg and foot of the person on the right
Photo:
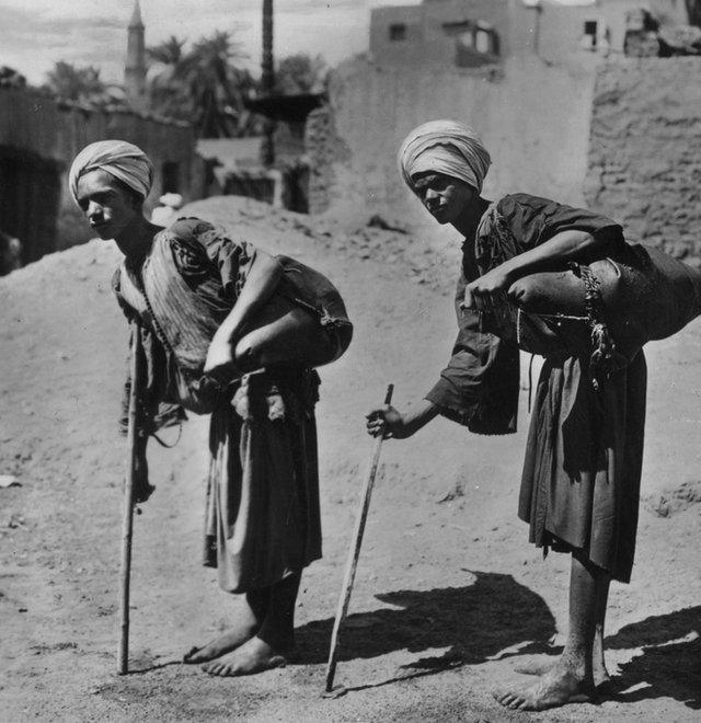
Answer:
M538 711L589 700L595 692L591 656L597 626L597 602L606 573L572 555L570 576L570 630L562 656L540 679L526 688L495 691L502 705Z

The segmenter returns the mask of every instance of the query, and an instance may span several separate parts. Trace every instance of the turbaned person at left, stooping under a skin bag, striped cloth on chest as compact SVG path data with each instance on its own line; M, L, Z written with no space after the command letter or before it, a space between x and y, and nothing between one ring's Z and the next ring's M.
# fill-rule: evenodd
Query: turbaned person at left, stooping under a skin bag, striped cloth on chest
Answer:
M88 146L69 174L90 226L125 254L114 287L145 352L137 500L152 491L148 436L183 408L211 414L205 564L245 605L185 662L257 673L291 652L301 571L321 556L313 367L338 358L353 328L333 285L294 259L197 218L149 222L152 180L143 151L120 140Z

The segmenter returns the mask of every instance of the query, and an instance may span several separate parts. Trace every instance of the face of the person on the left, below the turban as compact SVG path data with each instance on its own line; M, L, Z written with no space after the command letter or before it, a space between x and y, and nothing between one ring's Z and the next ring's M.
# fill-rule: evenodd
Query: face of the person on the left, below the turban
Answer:
M141 216L134 197L106 171L90 171L78 180L78 205L101 239L116 239Z

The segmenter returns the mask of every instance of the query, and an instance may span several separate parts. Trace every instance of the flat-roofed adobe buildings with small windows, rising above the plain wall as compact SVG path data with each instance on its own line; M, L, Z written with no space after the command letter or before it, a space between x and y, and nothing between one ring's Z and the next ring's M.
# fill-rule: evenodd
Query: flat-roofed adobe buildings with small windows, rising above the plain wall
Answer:
M688 22L683 0L423 0L376 8L370 60L384 67L471 68L535 51L550 62L572 54L623 51L629 12Z

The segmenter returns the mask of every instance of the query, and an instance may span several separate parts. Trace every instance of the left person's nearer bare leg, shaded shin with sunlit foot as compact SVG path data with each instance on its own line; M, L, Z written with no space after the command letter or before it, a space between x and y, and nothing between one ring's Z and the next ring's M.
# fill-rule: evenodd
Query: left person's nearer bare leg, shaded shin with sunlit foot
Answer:
M209 675L240 676L287 663L295 647L295 606L301 573L288 575L269 588L269 606L256 634L225 655L203 665Z

